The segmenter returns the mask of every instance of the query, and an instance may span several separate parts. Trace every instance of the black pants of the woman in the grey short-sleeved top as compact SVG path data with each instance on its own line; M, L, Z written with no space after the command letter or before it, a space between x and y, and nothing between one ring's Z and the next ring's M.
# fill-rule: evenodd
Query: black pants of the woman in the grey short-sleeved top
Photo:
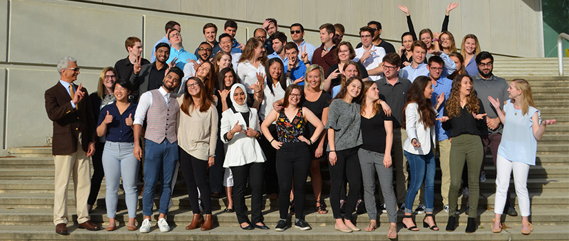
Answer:
M330 180L332 187L330 187L330 205L332 206L332 213L334 218L342 218L340 213L340 190L343 178L348 179L350 185L350 192L346 198L346 213L345 218L352 219L352 213L356 207L356 202L361 189L361 169L359 167L359 158L357 151L359 147L344 149L336 151L337 161L336 165L330 165Z

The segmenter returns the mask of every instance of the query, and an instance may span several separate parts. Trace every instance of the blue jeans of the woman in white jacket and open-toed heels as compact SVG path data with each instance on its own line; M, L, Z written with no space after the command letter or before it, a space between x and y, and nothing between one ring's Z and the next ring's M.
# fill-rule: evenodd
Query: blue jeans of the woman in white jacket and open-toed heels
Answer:
M426 155L410 154L407 151L403 151L403 154L409 163L411 176L409 189L407 189L405 196L405 212L413 212L413 201L417 196L417 191L421 188L421 184L425 182L425 211L432 213L433 202L435 202L435 155L432 150Z

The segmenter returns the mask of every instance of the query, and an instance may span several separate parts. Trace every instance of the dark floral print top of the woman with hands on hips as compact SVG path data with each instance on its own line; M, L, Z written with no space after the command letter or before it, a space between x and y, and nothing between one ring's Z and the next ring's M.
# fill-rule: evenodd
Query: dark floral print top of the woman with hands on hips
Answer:
M284 108L279 112L279 118L277 118L277 135L279 136L279 142L281 143L300 143L299 136L304 134L304 116L302 115L302 108L292 118L292 121L288 120L284 112Z

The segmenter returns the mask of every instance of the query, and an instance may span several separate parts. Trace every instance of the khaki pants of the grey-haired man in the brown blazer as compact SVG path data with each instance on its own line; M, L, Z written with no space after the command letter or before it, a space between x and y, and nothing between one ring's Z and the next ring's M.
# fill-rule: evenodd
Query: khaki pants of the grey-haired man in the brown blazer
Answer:
M87 200L91 188L90 158L81 149L81 134L77 151L70 155L53 156L55 164L55 195L53 200L53 223L68 223L67 198L69 177L73 177L75 205L77 206L77 222L89 220Z

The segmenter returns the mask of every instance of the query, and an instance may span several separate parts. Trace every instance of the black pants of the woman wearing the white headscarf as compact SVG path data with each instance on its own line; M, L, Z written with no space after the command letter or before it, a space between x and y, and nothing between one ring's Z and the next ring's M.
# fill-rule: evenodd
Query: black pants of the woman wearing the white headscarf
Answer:
M245 214L245 189L247 179L251 187L251 220L252 223L263 222L263 163L249 163L243 166L231 167L233 174L233 208L239 224L251 223Z

